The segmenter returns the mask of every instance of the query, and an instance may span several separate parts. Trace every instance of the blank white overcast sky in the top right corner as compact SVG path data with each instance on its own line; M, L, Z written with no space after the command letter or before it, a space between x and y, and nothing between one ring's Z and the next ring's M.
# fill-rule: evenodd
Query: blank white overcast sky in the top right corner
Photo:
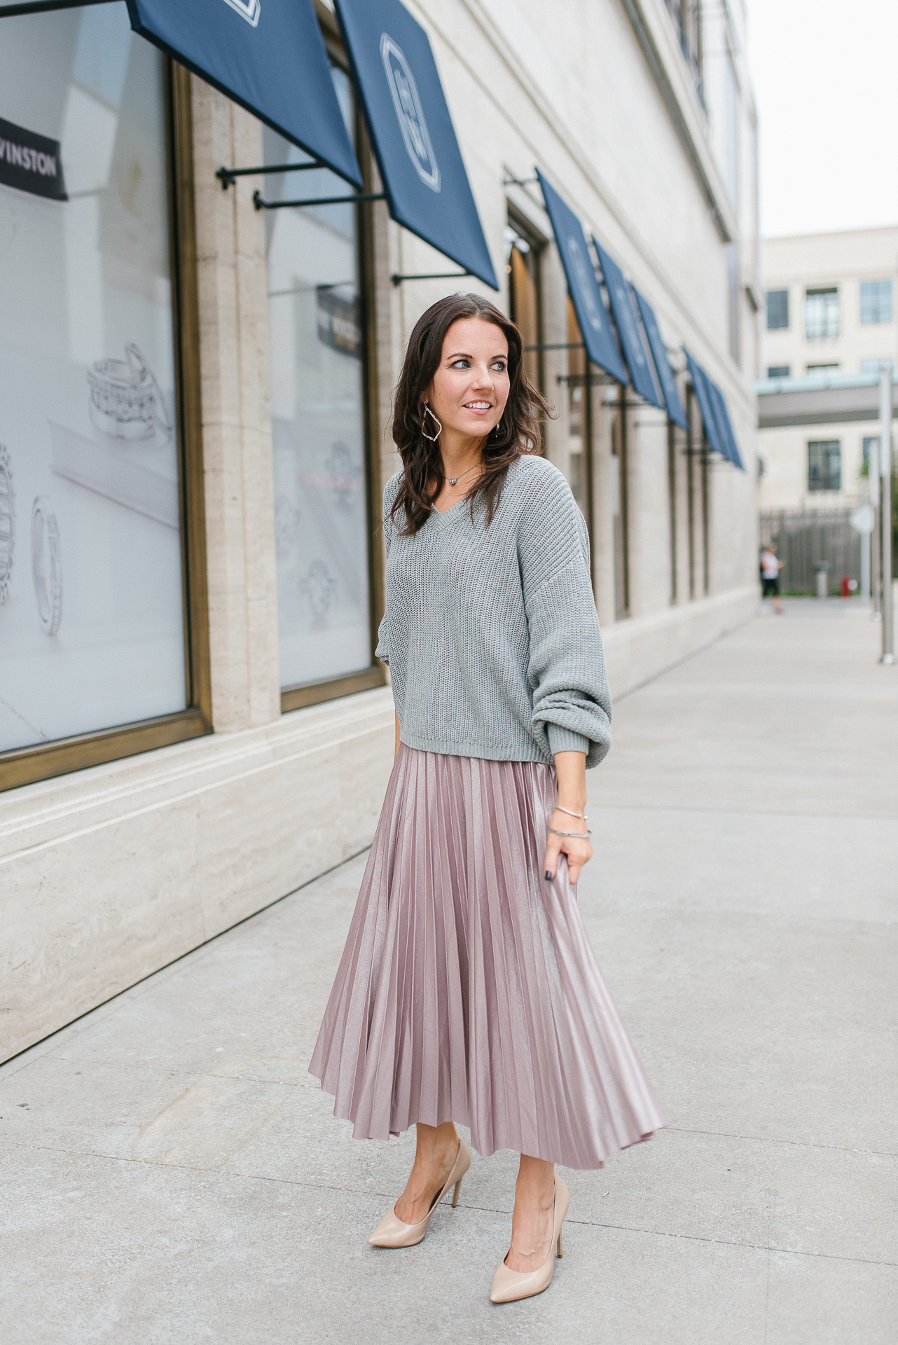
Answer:
M898 225L898 0L747 0L761 230Z

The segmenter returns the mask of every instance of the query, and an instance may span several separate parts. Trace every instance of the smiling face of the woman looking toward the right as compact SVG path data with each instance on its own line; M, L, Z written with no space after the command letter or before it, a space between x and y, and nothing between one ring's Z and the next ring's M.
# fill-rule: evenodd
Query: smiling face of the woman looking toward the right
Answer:
M508 342L481 317L460 317L442 343L440 367L423 399L444 429L483 438L508 401Z

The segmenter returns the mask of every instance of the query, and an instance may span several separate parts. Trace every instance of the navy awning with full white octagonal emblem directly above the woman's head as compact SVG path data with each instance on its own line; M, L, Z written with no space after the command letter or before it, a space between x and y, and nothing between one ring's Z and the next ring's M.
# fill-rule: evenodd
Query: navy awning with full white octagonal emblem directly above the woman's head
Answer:
M336 0L336 15L390 214L499 289L427 34L399 0Z

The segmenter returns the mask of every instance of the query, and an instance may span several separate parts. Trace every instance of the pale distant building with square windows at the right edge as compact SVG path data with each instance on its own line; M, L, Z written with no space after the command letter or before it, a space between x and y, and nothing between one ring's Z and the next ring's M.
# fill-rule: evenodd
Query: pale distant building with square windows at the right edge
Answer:
M768 238L764 273L761 511L851 508L898 363L898 226Z

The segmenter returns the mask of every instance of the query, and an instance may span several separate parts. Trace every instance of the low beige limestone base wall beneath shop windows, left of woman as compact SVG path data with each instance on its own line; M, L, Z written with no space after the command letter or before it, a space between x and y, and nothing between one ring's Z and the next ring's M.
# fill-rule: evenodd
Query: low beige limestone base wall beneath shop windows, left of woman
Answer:
M0 794L0 1060L363 850L391 764L380 689Z

